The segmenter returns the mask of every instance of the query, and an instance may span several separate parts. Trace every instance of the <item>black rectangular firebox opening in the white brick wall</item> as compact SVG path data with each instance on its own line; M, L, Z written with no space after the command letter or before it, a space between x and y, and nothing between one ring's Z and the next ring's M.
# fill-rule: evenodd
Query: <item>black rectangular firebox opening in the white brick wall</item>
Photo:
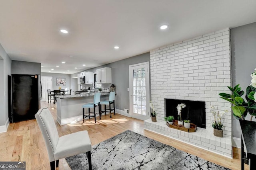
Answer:
M178 104L186 104L186 107L182 109L181 115L182 120L190 120L198 127L205 128L205 102L191 101L191 100L176 100L176 99L165 99L165 115L174 116L178 119Z

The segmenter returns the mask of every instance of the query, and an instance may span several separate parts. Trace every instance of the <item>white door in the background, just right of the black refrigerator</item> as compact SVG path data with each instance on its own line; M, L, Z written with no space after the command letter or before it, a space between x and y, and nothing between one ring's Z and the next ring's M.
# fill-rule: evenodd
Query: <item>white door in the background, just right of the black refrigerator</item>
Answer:
M48 101L48 92L47 89L52 90L52 77L41 77L41 83L42 83L42 100L41 102Z

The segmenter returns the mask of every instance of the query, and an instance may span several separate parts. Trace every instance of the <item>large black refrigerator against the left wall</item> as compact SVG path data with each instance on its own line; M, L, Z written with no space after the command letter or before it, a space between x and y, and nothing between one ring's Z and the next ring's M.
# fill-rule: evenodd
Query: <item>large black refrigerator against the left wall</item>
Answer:
M39 74L12 74L10 122L35 119L41 107L42 86Z

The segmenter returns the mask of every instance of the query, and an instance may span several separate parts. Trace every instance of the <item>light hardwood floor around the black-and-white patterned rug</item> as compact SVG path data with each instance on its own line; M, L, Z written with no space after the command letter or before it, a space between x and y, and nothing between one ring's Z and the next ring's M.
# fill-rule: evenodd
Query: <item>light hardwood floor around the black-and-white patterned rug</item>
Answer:
M48 104L47 102L42 102L42 107L48 107L48 109L50 109L60 136L87 130L92 145L95 145L126 130L131 130L227 168L239 170L241 167L241 153L240 149L237 148L233 148L234 158L229 159L144 130L143 121L119 114L112 115L111 119L109 115L103 115L101 120L97 118L97 123L94 123L94 118L92 118L84 123L80 121L74 124L60 126L56 121L56 105L53 103ZM27 170L50 169L44 139L35 119L10 123L8 131L6 133L0 133L0 161L26 161ZM59 168L57 169L66 170L70 168L66 163L66 160L61 159ZM248 169L248 166L246 166L245 169Z

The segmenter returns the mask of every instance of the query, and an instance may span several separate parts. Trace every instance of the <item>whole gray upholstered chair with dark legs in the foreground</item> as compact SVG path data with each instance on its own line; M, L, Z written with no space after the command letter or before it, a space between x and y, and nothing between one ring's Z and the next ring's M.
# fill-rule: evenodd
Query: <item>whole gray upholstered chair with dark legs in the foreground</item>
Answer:
M35 115L46 144L51 170L59 165L59 159L86 152L89 169L92 169L92 145L87 131L79 131L59 137L49 109L41 108Z

